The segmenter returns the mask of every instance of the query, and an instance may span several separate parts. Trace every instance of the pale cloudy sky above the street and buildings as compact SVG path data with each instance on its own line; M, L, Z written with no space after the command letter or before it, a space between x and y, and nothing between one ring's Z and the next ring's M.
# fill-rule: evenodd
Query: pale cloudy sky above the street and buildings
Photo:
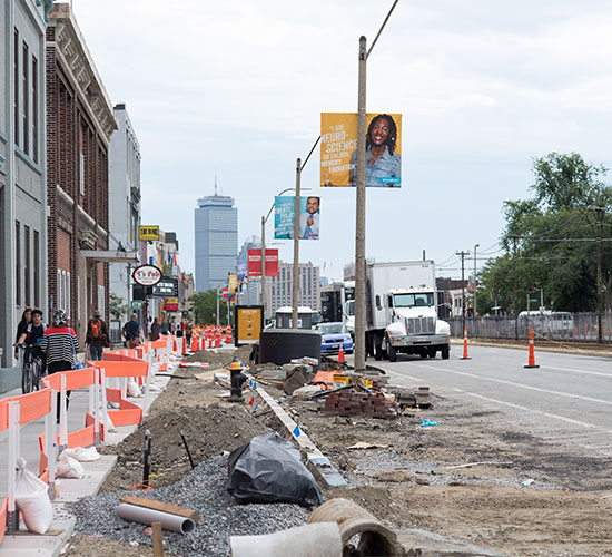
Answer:
M259 234L320 113L356 111L358 38L374 39L392 3L73 0L140 141L142 223L178 233L182 267L194 270L194 208L215 174L236 201L239 244ZM604 0L399 0L368 59L367 107L403 115L403 185L367 190L367 256L425 250L440 275L460 276L455 251L496 253L502 202L529 195L533 157L578 152L611 167L611 28ZM300 242L300 261L342 280L355 192L319 188L318 156L302 186L322 197L322 240ZM292 261L289 242L279 247Z

